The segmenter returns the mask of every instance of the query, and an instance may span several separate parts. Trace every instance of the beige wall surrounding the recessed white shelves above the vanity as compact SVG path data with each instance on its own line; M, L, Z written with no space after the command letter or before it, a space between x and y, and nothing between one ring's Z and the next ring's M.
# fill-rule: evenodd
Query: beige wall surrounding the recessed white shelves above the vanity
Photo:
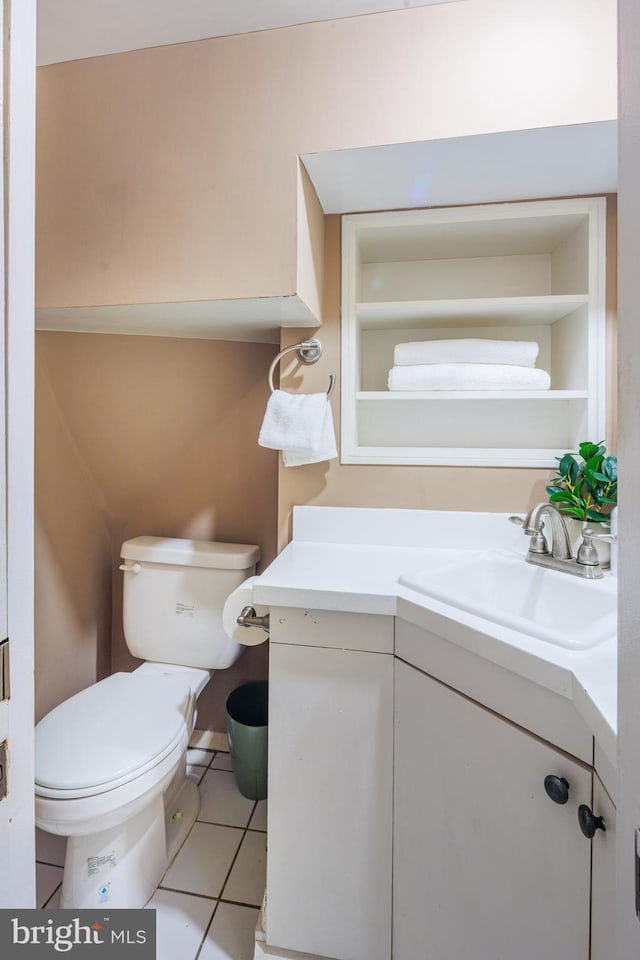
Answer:
M615 318L615 197L607 203L607 441L615 449L616 318ZM325 222L325 302L320 336L322 360L303 367L295 361L282 366L281 386L314 392L328 386L330 373L340 373L340 224L338 216ZM282 345L294 343L304 331L288 330ZM340 435L340 380L332 398L336 434ZM600 437L586 438L600 440ZM546 500L550 470L499 467L411 467L341 464L339 460L312 466L279 466L278 544L291 536L296 504L317 506L413 507L431 510L495 510L522 513Z

